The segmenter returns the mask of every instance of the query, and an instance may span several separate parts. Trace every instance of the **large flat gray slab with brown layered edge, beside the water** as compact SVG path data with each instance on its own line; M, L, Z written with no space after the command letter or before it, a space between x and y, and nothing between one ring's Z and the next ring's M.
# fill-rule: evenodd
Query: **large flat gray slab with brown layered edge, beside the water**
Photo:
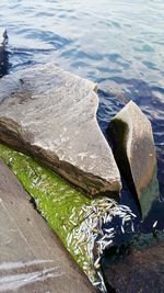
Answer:
M118 194L120 174L96 120L96 84L49 64L0 80L0 139L90 195Z

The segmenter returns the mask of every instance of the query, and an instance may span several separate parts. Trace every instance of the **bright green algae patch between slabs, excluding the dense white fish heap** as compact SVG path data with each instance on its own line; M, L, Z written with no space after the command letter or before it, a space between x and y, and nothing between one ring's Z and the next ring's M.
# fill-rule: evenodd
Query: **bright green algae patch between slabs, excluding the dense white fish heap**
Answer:
M73 188L33 158L1 144L0 157L33 196L37 210L60 237L73 259L93 280L95 272L86 246L75 243L72 232L78 232L81 222L85 218L84 207L96 200L89 199L83 191Z

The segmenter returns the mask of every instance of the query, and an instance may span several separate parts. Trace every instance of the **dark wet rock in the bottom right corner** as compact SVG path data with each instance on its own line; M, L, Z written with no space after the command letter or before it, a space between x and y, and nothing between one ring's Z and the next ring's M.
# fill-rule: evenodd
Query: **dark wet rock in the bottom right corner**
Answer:
M107 262L107 260L106 260ZM164 243L148 249L133 250L120 262L104 270L105 278L116 293L162 293L164 283Z

